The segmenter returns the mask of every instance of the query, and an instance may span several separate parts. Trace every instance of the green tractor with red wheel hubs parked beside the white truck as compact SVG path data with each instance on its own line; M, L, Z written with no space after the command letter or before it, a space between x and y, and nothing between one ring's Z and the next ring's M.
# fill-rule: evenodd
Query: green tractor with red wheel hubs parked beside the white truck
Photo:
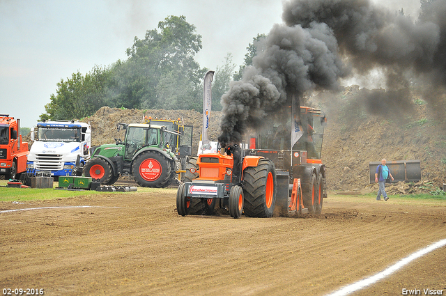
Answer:
M112 185L119 176L133 176L141 187L167 187L176 182L181 170L184 151L192 143L180 145L185 127L146 123L118 123L118 131L126 130L124 141L91 148L91 159L84 166L87 177L99 179L101 184ZM178 128L177 128L178 127ZM192 139L192 129L190 139ZM185 137L189 139L189 137ZM178 149L182 147L182 149ZM182 155L178 155L182 151Z

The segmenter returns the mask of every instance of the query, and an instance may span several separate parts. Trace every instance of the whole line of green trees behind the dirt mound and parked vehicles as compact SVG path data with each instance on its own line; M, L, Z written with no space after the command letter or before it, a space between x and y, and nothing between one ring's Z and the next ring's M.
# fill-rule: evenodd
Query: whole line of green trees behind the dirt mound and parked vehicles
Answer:
M254 42L247 47L245 63L236 71L231 54L215 69L213 110L220 111L220 98L229 82L240 79L243 69L252 64ZM127 109L203 109L203 77L208 71L194 60L202 48L201 35L183 15L169 16L157 29L146 31L144 39L134 38L126 50L128 58L109 66L95 66L82 75L73 73L56 84L40 120L69 120L91 116L100 107Z

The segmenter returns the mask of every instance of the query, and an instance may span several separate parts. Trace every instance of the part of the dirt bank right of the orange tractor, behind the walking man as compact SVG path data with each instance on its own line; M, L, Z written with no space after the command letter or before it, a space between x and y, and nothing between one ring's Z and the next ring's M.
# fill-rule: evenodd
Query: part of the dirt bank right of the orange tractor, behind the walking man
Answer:
M382 158L387 162L419 159L422 181L443 187L445 120L435 118L435 110L417 98L413 99L410 113L371 116L364 107L358 107L358 95L359 86L351 86L342 93L321 93L312 98L312 104L328 116L322 159L327 166L329 190L370 187L369 162L379 162Z

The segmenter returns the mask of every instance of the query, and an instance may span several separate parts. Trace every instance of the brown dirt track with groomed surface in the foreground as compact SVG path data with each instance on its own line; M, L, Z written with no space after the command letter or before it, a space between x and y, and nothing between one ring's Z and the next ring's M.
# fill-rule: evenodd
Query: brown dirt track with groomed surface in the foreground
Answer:
M325 295L446 238L445 202L330 196L321 217L180 217L176 189L0 203L0 288ZM90 208L47 208L90 206ZM41 208L36 210L6 210ZM446 247L355 295L444 290Z

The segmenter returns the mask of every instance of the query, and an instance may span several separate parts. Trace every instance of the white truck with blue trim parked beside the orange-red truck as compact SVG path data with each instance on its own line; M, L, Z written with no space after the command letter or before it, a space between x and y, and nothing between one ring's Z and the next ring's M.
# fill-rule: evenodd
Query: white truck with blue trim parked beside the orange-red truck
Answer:
M72 176L77 156L81 166L90 158L91 126L74 120L45 121L31 128L31 141L34 143L28 155L28 171Z

